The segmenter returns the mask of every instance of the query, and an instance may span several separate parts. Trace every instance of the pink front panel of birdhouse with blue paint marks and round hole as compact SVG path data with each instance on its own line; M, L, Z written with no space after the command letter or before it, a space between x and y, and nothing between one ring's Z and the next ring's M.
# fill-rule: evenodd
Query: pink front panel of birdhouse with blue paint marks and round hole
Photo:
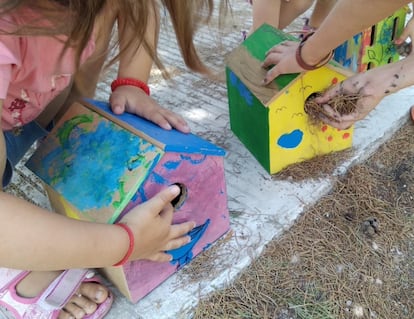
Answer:
M174 223L194 220L197 228L192 232L191 243L173 252L174 259L170 263L133 261L123 267L103 270L109 278L122 278L117 281L118 288L124 290L132 302L143 298L191 262L229 229L223 159L217 156L166 153L124 213L171 184L185 189L174 213Z

